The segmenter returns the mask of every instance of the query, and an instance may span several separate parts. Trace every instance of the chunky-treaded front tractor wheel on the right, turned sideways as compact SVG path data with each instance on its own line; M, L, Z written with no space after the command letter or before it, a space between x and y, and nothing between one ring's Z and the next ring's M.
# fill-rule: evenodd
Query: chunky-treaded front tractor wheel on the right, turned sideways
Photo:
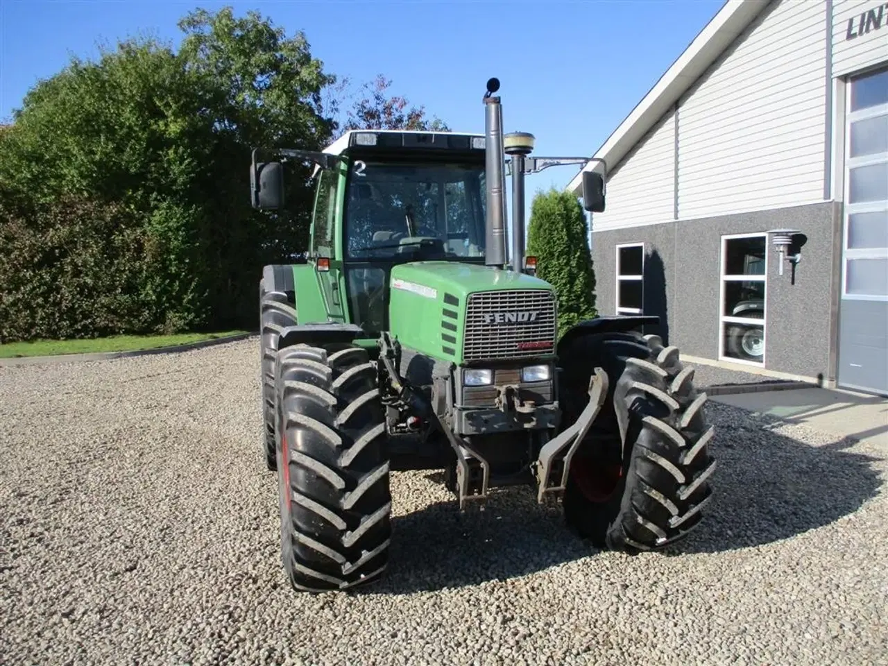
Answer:
M567 524L599 548L630 553L686 536L702 519L715 469L706 394L694 390L694 370L682 366L676 347L635 333L575 339L561 364L565 424L588 403L594 368L610 379L599 418L571 464L563 503Z

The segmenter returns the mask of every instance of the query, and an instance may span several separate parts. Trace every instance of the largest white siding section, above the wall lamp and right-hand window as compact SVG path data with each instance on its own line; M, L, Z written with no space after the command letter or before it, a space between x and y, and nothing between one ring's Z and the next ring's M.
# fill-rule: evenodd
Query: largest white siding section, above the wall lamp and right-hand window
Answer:
M680 219L822 200L826 8L781 0L686 93L678 110Z

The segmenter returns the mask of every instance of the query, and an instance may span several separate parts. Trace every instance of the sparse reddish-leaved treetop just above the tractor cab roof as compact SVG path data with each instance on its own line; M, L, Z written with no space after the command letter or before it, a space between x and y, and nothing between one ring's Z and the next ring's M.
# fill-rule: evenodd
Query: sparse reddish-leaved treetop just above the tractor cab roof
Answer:
M339 87L343 91L348 84L346 79ZM364 83L361 89L364 97L354 102L348 111L343 130L424 130L449 131L447 123L435 116L431 121L425 116L425 107L409 107L406 98L388 96L386 91L392 85L391 79L383 75Z

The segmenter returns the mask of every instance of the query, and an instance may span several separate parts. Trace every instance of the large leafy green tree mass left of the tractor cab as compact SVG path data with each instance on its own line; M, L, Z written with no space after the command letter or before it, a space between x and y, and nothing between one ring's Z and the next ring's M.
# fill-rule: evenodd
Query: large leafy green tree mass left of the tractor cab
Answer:
M312 192L310 167L294 164L288 210L275 218L252 210L250 150L318 149L334 129L321 93L335 78L301 34L287 37L257 12L235 18L229 8L192 12L180 28L178 52L131 39L102 50L97 62L73 59L29 91L12 127L0 132L0 186L30 205L28 216L0 218L4 235L18 239L0 248L0 262L41 265L39 243L26 241L42 237L41 220L62 224L59 202L83 210L84 239L111 215L143 252L133 263L109 247L104 259L108 274L125 264L137 276L140 316L123 326L133 332L251 321L261 266L305 248ZM86 240L66 238L73 255L91 251ZM91 285L97 302L119 289ZM15 289L3 283L4 302L24 302ZM51 312L64 290L49 284L26 300ZM59 327L104 330L73 319Z

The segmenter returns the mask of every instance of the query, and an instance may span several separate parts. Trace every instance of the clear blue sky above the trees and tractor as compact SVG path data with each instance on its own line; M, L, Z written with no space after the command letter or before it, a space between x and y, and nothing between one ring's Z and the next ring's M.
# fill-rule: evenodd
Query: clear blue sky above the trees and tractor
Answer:
M139 32L178 44L180 17L226 4L305 31L329 72L384 74L454 130L484 131L480 99L496 76L505 131L532 132L536 155L592 155L724 0L0 0L0 120L71 54ZM528 207L575 172L528 178Z

